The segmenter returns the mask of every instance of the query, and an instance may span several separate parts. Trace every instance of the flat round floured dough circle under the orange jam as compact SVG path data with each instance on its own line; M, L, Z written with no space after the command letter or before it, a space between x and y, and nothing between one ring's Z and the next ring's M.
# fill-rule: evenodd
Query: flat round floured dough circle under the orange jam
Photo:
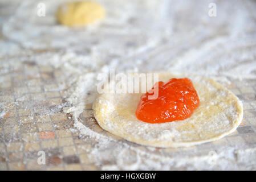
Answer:
M159 80L168 81L173 77L185 76L161 73ZM141 94L100 94L93 106L96 121L112 134L155 147L189 147L235 131L243 117L242 102L216 81L200 76L189 78L200 97L200 106L188 119L146 123L135 115Z

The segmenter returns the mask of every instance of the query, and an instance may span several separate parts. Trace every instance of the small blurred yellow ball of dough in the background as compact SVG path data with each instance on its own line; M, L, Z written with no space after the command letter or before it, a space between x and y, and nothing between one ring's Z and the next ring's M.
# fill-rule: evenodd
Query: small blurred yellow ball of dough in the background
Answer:
M67 2L59 6L56 19L65 26L86 26L97 20L103 19L105 10L97 2L79 1Z

